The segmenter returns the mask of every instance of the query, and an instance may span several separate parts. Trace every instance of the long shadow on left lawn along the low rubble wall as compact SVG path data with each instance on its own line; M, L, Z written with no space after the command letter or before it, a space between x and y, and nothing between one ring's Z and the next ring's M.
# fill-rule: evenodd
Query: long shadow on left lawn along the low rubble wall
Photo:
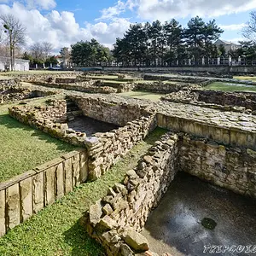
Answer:
M55 143L58 150L73 150L74 148L76 148L71 144L62 142L54 137L50 137L48 134L44 133L44 131L39 131L33 129L29 125L24 125L20 123L16 119L10 117L8 113L0 115L0 129L2 125L8 129L20 129L22 131L25 131L29 133L26 136L29 135L30 137L36 137L38 140L42 140L45 143Z

